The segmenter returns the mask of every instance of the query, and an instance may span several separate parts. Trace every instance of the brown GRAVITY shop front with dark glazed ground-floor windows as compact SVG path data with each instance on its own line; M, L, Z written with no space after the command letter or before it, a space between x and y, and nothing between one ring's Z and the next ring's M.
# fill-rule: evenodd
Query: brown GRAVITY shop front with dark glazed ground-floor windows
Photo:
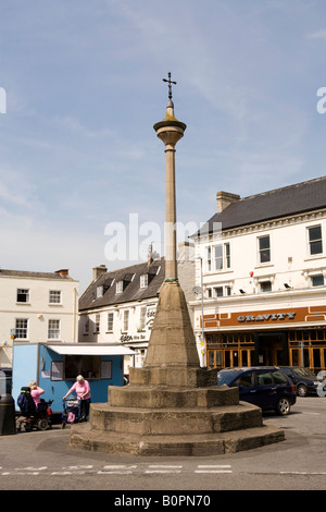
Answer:
M326 306L204 315L206 364L326 367Z

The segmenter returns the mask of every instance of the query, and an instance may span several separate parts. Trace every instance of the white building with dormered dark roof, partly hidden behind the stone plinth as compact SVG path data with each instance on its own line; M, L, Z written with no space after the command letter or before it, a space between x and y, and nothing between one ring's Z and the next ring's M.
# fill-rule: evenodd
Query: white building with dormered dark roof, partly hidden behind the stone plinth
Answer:
M191 245L179 244L178 276L186 298L192 298L195 261ZM125 357L129 366L141 367L155 317L161 287L165 279L164 258L149 257L147 263L108 271L93 268L93 279L79 300L80 342L121 343L135 350Z

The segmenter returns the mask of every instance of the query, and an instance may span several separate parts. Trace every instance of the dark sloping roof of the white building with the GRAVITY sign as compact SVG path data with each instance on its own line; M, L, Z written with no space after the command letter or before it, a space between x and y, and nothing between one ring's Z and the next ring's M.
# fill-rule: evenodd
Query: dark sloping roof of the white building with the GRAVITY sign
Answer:
M326 208L326 176L238 199L213 215L193 236L216 231L221 224L225 231L322 208Z

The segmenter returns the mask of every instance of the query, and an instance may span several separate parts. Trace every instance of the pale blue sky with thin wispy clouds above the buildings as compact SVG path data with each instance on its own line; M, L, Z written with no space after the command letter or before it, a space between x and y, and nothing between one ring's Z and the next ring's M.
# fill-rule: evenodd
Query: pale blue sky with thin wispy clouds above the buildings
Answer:
M83 293L164 254L168 72L180 224L217 191L325 175L325 56L324 0L2 0L0 267L68 268Z

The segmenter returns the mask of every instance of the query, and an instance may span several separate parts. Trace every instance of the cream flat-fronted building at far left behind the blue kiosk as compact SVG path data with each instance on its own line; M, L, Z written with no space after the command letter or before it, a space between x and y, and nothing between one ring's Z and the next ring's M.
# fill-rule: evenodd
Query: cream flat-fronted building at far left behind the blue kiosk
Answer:
M0 269L0 367L12 365L20 342L77 342L78 281L66 269Z

